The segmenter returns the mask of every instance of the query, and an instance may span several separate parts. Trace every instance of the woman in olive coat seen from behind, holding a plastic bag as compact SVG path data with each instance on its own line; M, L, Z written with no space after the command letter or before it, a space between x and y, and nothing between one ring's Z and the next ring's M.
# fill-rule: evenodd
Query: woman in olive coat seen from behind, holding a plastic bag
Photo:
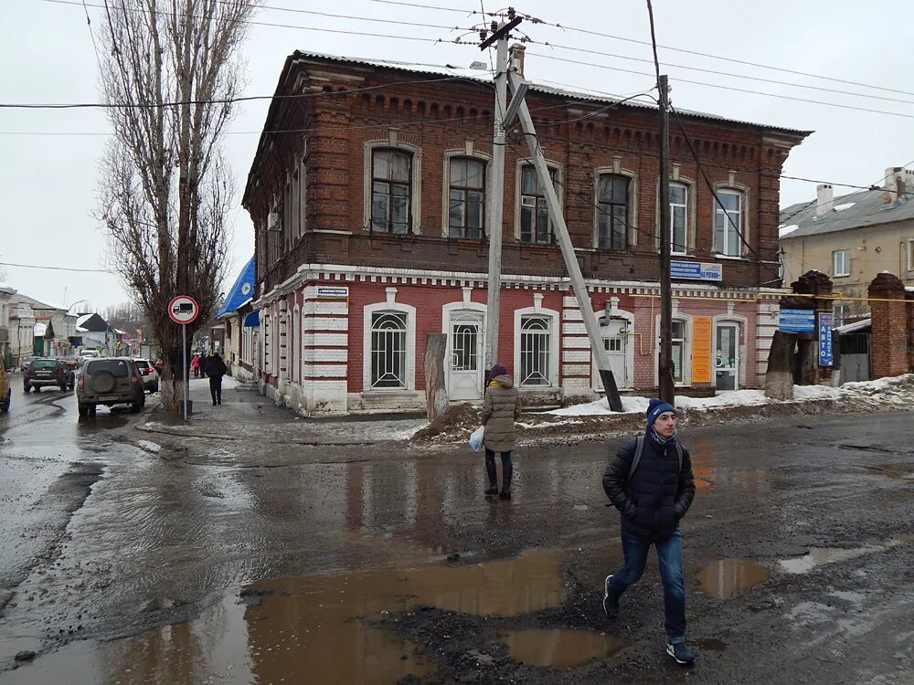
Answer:
M515 421L520 418L520 398L514 379L508 375L505 364L494 364L492 381L485 388L483 400L483 445L485 447L485 473L489 487L485 494L497 494L503 500L511 499L511 477L514 465L511 451L515 448ZM502 457L502 491L498 491L498 476L495 471L495 452Z

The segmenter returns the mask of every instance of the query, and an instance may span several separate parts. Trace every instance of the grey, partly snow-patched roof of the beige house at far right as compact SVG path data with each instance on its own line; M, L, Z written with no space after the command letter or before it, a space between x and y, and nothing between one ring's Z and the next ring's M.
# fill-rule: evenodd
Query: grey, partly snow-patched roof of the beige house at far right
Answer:
M833 209L816 216L816 203L800 203L781 210L781 226L796 226L781 240L794 237L818 236L851 228L866 228L906 219L914 219L914 196L901 195L897 202L886 205L883 191L862 190L834 198Z

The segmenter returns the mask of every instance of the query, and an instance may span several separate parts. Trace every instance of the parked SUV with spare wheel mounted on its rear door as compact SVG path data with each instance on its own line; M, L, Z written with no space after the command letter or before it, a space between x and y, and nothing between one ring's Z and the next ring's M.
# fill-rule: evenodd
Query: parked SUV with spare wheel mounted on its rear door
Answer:
M80 416L94 416L99 405L130 405L133 412L146 404L143 375L130 357L90 359L82 367L76 385Z

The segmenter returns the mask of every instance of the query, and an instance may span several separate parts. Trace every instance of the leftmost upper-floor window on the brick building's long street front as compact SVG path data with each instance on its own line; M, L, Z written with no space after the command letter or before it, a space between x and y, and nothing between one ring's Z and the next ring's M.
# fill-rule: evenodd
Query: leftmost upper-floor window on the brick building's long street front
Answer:
M409 233L412 203L412 155L377 148L371 153L371 230Z

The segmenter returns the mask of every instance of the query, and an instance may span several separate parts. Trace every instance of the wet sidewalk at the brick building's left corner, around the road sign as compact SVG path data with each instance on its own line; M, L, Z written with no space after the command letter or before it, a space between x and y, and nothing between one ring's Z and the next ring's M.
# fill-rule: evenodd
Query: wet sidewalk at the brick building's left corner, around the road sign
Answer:
M193 414L184 421L166 414L156 401L137 428L148 433L219 440L250 440L277 445L372 445L405 440L428 424L424 416L342 416L305 418L278 407L254 390L238 390L235 379L222 381L222 404L213 406L209 380L190 379ZM150 395L150 399L157 395ZM147 400L147 404L149 404ZM282 427L281 430L277 428Z

